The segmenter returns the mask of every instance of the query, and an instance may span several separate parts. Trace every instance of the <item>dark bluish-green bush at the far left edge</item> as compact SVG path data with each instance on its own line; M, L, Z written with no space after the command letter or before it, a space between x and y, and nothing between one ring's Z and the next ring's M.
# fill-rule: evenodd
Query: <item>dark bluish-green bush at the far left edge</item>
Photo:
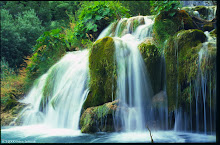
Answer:
M31 47L43 31L33 10L19 13L15 18L8 10L1 10L1 55L9 67L20 67L24 57L32 53Z

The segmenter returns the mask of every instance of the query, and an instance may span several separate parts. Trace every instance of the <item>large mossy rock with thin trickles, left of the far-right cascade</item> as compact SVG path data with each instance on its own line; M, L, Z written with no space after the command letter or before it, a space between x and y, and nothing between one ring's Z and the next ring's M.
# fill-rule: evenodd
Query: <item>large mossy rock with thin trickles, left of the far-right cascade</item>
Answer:
M205 40L205 34L197 29L182 30L168 40L165 46L165 59L169 110L176 107L177 97L178 104L186 101L184 97L179 96L186 96L185 89L196 77L198 52Z

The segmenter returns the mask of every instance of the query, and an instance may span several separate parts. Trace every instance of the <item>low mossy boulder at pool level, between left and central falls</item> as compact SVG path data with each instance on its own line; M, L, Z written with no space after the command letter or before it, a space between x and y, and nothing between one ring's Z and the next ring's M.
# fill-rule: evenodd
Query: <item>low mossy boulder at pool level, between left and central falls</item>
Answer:
M113 113L116 111L117 105L118 100L87 108L80 118L81 132L114 131Z

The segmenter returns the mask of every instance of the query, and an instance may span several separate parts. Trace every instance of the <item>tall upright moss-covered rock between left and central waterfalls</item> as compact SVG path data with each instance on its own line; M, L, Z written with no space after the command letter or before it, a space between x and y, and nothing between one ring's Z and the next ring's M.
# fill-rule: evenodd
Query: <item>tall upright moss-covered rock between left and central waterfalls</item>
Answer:
M90 92L83 108L102 105L115 98L115 45L111 37L97 40L89 56Z

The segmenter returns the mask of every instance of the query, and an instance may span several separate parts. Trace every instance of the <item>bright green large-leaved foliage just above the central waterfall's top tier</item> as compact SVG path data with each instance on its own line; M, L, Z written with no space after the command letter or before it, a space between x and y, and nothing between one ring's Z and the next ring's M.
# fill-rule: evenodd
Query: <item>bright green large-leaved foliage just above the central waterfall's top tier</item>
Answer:
M128 16L127 11L119 2L84 2L77 12L78 21L74 29L75 35L79 39L97 38L110 22Z

